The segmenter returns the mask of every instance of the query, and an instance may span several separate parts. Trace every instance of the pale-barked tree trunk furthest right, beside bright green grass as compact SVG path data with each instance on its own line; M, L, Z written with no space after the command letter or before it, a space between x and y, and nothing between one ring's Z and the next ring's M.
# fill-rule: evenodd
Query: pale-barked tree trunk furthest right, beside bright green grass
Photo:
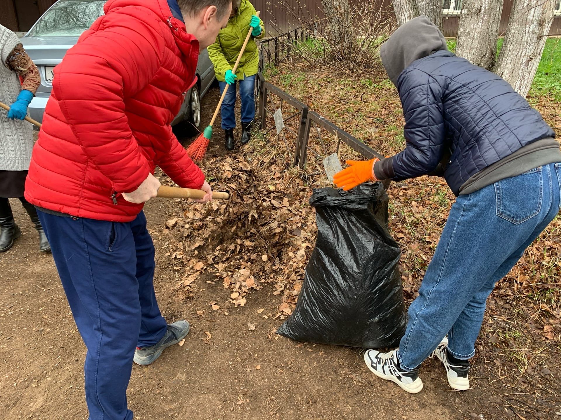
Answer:
M495 73L526 97L553 21L555 0L514 0Z

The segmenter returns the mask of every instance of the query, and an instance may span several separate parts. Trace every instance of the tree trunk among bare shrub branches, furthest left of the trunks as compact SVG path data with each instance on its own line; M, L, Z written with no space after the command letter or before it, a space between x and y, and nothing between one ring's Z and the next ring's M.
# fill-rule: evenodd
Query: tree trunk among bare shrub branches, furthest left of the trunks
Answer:
M350 57L353 52L355 30L348 0L321 0L327 17L327 38L332 54Z

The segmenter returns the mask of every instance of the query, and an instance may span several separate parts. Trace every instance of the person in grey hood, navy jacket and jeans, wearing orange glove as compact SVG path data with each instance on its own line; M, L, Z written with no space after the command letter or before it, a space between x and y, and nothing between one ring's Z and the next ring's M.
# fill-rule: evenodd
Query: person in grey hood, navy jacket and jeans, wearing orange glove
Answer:
M369 350L365 362L417 393L419 365L438 357L450 386L465 390L488 296L559 212L559 143L511 85L450 53L426 16L390 36L381 59L399 91L406 147L381 161L348 162L335 183L349 190L439 174L457 200L399 349Z

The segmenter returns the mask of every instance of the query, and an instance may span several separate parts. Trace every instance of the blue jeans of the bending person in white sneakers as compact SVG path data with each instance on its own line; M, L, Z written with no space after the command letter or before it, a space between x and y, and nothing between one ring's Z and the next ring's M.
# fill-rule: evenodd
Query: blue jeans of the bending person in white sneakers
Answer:
M560 184L561 164L550 164L457 198L408 311L404 368L419 366L447 334L454 357L473 357L487 297L557 216Z

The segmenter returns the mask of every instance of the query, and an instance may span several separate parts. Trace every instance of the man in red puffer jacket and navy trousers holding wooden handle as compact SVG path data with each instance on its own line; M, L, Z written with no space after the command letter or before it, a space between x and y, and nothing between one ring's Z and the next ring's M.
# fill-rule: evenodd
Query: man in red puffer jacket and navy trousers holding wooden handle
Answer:
M154 362L188 333L155 298L154 245L142 213L158 165L206 192L203 172L172 133L231 0L109 0L54 71L25 198L38 209L72 315L88 348L90 419L130 420L132 361ZM136 350L135 350L136 349Z

